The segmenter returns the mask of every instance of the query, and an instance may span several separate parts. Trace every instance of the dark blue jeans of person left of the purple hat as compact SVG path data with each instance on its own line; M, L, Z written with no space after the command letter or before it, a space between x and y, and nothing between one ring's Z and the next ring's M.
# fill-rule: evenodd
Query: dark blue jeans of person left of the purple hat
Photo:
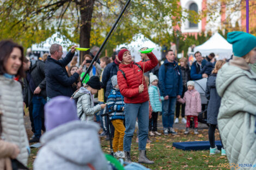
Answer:
M44 116L44 106L45 106L45 99L42 96L33 96L32 104L33 104L33 121L35 127L35 137L40 138L41 130L42 130L42 117Z

